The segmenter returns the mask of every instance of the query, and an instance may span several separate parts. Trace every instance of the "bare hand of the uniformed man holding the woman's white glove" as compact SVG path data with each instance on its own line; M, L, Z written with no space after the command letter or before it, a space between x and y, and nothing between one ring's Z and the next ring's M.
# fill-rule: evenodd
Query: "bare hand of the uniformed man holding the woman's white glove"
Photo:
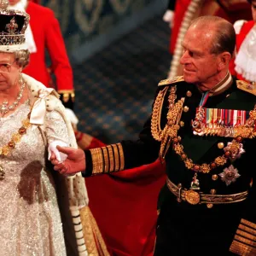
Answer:
M67 159L63 162L56 160L55 154L50 157L51 163L55 171L64 175L73 175L77 172L85 171L85 154L84 150L77 148L67 148L57 146L57 149L64 154L67 154Z

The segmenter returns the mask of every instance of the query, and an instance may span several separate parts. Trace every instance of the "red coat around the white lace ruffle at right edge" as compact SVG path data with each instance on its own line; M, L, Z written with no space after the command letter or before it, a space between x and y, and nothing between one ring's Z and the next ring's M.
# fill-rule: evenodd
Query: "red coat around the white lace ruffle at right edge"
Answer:
M254 20L250 20L241 26L241 31L239 32L239 34L236 35L236 52L239 51L243 40L247 36L247 33L250 32L250 30L253 28L254 25L255 25ZM235 59L232 59L230 61L230 73L236 76L236 78L239 80L246 80L241 76L241 74L236 73L235 67L236 67Z

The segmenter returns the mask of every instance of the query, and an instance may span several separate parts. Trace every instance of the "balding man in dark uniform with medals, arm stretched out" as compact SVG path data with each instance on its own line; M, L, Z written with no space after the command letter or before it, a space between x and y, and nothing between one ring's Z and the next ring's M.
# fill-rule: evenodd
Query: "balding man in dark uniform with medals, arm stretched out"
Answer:
M256 254L255 96L230 75L235 44L230 22L197 18L183 40L183 77L160 81L139 140L59 148L62 163L52 156L55 170L86 177L165 161L154 255Z

